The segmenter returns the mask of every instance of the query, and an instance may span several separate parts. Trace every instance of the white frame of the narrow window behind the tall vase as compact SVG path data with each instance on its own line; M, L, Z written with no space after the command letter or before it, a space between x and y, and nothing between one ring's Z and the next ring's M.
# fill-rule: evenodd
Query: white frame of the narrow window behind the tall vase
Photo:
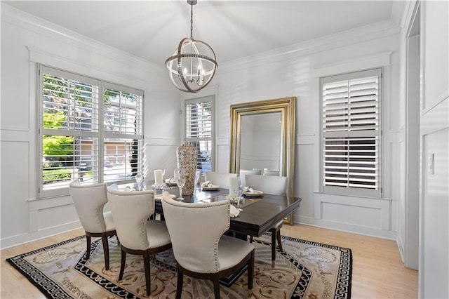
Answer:
M188 138L187 137L187 105L192 105L192 104L196 104L196 103L202 103L202 102L210 102L211 105L211 121L210 121L210 137L208 138L199 138L199 137L194 137L194 138ZM210 170L206 170L206 171L214 171L215 167L215 97L213 95L209 95L203 98L193 98L193 99L189 99L189 100L185 100L184 103L184 108L185 108L185 117L184 117L184 139L185 142L201 142L201 141L210 141L211 145L210 145ZM197 157L196 159L196 170L200 170L199 169L199 157ZM201 169L201 175L204 175L206 173L206 171L203 171Z

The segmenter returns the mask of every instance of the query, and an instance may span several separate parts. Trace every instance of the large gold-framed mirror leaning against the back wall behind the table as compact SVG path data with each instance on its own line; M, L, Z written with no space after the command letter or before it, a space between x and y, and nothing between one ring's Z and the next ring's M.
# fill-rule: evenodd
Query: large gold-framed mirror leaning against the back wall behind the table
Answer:
M231 105L229 171L279 171L288 177L287 195L293 197L295 112L295 97ZM293 216L286 222L292 225Z

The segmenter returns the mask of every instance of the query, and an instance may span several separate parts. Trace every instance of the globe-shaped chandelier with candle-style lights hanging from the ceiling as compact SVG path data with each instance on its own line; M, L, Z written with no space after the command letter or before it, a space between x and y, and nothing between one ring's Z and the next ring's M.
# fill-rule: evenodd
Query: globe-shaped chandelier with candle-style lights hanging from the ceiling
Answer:
M177 89L196 93L209 84L218 65L213 49L193 38L193 8L197 0L187 0L187 3L190 4L190 38L180 41L175 53L167 58L166 67Z

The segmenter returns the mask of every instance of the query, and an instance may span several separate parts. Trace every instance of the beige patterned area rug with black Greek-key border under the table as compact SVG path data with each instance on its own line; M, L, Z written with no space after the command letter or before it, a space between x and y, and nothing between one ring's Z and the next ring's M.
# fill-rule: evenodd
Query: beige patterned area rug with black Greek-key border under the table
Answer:
M272 267L270 235L255 238L255 278L248 293L247 272L221 298L350 298L351 249L282 236L283 252ZM8 262L47 298L147 298L143 260L127 255L122 281L120 246L109 239L110 267L105 270L100 239L86 260L86 238L76 237L13 258ZM171 250L151 258L150 298L175 298L176 263ZM184 277L182 298L213 298L210 281Z

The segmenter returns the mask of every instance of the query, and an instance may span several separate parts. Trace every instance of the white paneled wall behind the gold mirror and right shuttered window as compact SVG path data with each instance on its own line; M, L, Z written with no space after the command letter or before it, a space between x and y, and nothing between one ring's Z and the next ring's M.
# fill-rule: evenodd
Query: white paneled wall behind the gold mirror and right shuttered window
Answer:
M380 23L281 48L251 58L222 63L219 86L217 148L229 152L229 105L295 96L295 197L302 198L294 221L378 237L396 238L397 197L390 185L397 170L398 27ZM382 199L322 194L319 187L319 77L384 68L384 171ZM222 150L220 150L222 149ZM229 169L222 156L218 168Z

